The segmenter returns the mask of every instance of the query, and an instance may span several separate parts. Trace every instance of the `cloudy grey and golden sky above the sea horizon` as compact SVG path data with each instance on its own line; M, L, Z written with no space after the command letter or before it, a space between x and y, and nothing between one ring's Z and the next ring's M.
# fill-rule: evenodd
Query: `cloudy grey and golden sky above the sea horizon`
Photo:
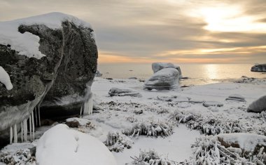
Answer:
M62 12L90 22L99 63L266 63L265 0L0 0L0 21Z

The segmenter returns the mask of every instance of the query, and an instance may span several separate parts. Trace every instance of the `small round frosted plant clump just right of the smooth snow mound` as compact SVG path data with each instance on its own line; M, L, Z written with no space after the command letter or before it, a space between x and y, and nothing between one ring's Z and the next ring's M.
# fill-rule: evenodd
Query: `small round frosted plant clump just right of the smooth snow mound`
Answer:
M120 132L109 132L104 144L110 151L121 152L125 147L130 149L133 145L133 141Z

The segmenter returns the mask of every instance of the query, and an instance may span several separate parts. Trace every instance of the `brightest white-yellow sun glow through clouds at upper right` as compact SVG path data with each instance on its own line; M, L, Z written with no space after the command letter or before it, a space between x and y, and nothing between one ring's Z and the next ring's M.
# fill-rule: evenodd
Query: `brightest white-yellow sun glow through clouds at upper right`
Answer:
M221 4L197 9L193 16L202 18L204 29L217 32L265 32L266 23L258 22L260 16L245 15L241 6Z

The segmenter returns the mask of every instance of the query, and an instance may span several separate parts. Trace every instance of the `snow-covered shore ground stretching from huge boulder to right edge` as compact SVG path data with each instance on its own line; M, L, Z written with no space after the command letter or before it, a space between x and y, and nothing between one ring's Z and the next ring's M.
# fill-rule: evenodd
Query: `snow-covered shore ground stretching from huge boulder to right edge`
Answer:
M196 138L203 137L203 134L216 135L222 130L223 133L266 135L266 115L246 112L253 100L265 95L266 81L257 79L251 83L241 82L190 86L172 91L148 91L143 89L144 82L138 79L108 80L96 77L92 92L99 110L83 117L88 119L90 124L83 124L75 129L89 133L102 142L106 141L109 132L127 134L133 142L131 148L120 148L120 152L113 152L119 165L132 164L134 159L131 157L139 157L140 150L155 150L170 161L184 161L190 159L193 154L191 145L195 144ZM108 91L113 87L132 89L141 96L111 97ZM233 94L242 95L246 102L225 100ZM202 101L211 101L209 103L219 103L223 106L204 107ZM197 117L197 121L186 122L189 115ZM215 121L216 125L211 125L210 121ZM152 132L154 128L158 128L156 126L161 126L160 124L165 126L167 133L155 137ZM139 132L138 135L137 130L141 127L137 126L147 126L151 133ZM213 131L216 128L220 130ZM36 134L46 129L38 128Z

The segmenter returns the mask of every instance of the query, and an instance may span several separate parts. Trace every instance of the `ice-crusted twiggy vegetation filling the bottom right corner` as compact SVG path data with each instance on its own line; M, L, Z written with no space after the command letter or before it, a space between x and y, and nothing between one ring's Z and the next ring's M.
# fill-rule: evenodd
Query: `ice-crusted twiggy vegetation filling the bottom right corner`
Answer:
M241 149L235 147L225 148L214 136L198 138L193 145L193 156L186 164L265 164L266 154L260 148L258 154L247 154L244 157Z

